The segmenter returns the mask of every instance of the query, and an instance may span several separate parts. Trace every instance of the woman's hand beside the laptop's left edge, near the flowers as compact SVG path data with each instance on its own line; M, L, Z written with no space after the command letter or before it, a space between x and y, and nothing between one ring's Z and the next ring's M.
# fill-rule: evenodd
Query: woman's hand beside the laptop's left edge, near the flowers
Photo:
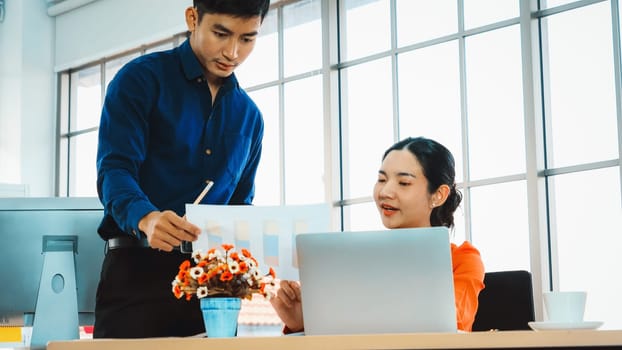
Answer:
M276 314L292 332L304 329L301 300L300 284L287 280L281 281L276 297L270 299Z

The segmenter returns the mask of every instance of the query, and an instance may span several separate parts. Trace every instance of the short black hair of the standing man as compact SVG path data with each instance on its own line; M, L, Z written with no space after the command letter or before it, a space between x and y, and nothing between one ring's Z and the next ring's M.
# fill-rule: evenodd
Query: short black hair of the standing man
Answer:
M199 22L206 13L241 18L260 16L263 22L270 9L270 0L194 0L193 5L199 14Z

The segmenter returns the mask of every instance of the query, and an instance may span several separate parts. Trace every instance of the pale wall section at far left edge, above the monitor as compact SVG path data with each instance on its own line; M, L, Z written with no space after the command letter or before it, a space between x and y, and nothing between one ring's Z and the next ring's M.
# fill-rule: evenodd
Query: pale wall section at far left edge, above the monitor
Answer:
M0 182L53 194L54 20L45 1L7 1L0 23Z

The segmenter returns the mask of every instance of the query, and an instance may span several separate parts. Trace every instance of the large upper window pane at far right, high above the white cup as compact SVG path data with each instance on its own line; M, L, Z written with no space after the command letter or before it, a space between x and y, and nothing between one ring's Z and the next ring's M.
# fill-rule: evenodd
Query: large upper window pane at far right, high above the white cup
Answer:
M611 5L545 17L550 103L548 166L619 158Z

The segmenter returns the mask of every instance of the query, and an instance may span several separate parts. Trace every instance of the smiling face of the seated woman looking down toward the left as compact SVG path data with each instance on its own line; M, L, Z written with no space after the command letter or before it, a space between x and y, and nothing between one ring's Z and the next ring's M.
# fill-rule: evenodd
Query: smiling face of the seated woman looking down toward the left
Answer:
M429 227L434 203L428 179L419 161L408 150L387 154L378 171L374 200L385 227Z

